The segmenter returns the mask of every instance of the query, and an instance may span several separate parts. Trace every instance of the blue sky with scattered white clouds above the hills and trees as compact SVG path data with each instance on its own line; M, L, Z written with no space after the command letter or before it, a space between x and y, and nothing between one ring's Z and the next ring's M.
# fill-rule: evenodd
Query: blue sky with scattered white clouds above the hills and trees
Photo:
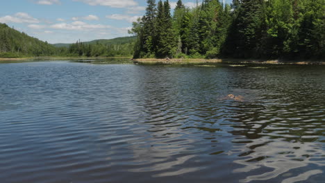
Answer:
M169 0L172 6L177 0ZM183 0L194 6L196 0ZM146 0L6 0L0 22L49 43L129 36L132 21L144 15Z

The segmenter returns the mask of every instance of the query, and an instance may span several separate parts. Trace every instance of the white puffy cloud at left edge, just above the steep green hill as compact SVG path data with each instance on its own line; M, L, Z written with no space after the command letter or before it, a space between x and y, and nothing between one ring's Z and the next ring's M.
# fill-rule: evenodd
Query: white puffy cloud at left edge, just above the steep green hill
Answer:
M0 17L0 22L2 23L29 23L29 24L38 24L40 20L31 17L26 12L17 12L15 15L6 15Z

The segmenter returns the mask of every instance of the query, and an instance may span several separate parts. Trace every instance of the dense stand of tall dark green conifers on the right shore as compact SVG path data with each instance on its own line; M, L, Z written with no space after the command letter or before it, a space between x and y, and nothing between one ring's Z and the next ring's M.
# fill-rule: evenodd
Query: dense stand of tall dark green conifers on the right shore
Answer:
M147 0L130 31L134 58L325 57L324 0L203 0L195 8Z

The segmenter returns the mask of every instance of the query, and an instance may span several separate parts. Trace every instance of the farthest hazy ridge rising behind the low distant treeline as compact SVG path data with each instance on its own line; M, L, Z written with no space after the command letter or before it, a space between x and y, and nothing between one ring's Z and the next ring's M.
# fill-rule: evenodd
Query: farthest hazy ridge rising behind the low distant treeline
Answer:
M113 45L113 44L126 44L126 43L131 43L131 42L135 42L135 40L137 39L136 36L131 36L131 37L117 37L114 39L110 39L110 40L93 40L91 42L83 42L83 44L106 44L106 45ZM53 44L53 46L56 47L65 47L68 48L71 44L64 44L64 43L58 43L58 44Z

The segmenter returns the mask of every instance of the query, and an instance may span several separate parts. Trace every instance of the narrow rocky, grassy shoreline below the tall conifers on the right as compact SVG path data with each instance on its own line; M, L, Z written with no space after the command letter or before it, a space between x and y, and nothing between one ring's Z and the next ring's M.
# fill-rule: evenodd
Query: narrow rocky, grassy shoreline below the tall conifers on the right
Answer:
M172 58L172 59L156 59L156 58L142 58L133 59L135 64L317 64L325 65L325 61L315 61L315 60L258 60L258 59L192 59L192 58Z

